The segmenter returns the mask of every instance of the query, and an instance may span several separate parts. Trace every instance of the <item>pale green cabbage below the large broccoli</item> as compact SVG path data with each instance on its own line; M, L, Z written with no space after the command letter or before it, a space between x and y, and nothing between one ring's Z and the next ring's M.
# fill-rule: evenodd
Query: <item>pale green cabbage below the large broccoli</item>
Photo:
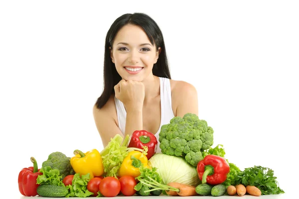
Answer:
M176 182L196 187L201 183L196 168L182 157L156 153L149 159L148 164L157 168L156 172L165 185Z

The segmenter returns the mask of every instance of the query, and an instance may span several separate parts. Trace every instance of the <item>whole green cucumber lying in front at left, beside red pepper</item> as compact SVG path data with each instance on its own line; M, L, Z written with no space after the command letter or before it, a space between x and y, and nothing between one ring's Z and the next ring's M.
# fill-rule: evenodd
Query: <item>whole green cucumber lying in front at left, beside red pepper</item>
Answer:
M59 198L65 197L68 194L68 189L57 185L43 184L37 187L36 192L41 197Z

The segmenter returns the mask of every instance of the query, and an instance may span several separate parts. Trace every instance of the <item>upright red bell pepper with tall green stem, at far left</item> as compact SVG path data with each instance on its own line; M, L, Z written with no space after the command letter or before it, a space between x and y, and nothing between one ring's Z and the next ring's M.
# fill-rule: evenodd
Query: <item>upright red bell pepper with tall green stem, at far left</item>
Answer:
M23 196L37 195L36 189L39 184L36 184L36 179L38 175L42 175L37 168L35 158L31 157L30 160L33 163L33 167L22 169L18 175L18 187Z

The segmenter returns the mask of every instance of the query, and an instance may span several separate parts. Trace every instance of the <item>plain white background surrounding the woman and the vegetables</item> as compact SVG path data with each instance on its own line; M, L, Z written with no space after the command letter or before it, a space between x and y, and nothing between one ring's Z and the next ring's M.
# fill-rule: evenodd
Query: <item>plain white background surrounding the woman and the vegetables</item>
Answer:
M20 196L17 176L31 156L41 166L55 151L103 149L92 107L105 36L133 12L158 23L171 77L197 89L214 146L240 169L269 167L284 191L298 190L298 3L194 2L1 1L1 194Z

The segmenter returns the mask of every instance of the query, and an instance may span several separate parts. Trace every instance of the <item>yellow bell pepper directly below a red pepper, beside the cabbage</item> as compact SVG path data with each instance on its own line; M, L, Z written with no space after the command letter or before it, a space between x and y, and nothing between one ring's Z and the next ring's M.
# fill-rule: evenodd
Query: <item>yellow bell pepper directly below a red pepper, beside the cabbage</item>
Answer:
M139 168L141 165L150 168L147 156L140 151L131 151L121 164L119 177L133 176L137 178L140 176Z

